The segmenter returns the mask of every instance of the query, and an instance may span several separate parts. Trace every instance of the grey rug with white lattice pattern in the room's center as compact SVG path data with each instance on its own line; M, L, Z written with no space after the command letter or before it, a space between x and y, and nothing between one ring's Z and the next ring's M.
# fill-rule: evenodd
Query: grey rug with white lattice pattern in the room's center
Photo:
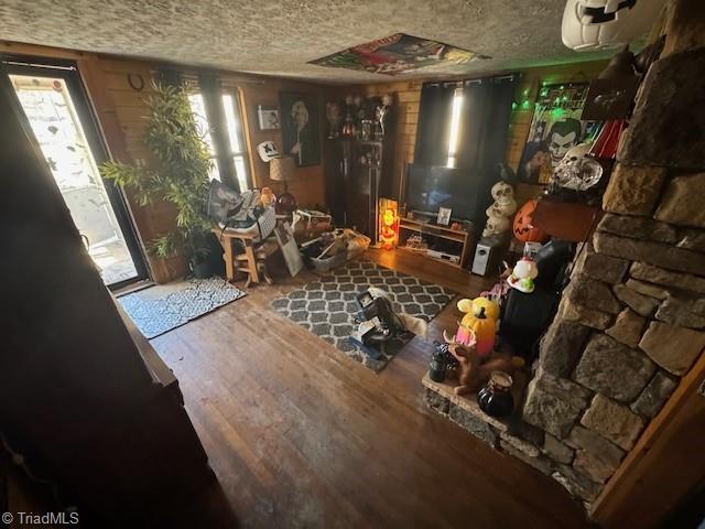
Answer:
M455 298L455 292L430 284L395 270L366 260L354 260L332 270L303 290L290 292L274 300L272 307L335 345L349 357L373 371L381 370L413 337L390 341L382 359L375 359L354 346L348 337L356 326L358 313L356 295L369 287L384 290L394 300L394 310L431 321Z

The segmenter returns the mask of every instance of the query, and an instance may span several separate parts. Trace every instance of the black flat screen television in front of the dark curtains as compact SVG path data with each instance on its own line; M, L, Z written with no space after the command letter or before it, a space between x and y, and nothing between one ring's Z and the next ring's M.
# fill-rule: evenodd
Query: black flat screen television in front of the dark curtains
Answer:
M414 163L406 173L406 209L436 214L438 208L449 207L453 218L476 220L487 207L486 187L479 175L467 169Z

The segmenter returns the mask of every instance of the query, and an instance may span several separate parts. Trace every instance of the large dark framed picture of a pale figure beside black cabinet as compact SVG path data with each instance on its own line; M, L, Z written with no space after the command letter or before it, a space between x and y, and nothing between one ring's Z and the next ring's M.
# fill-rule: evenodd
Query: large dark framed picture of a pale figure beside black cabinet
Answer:
M296 166L318 165L318 98L312 94L280 91L282 154L291 155Z

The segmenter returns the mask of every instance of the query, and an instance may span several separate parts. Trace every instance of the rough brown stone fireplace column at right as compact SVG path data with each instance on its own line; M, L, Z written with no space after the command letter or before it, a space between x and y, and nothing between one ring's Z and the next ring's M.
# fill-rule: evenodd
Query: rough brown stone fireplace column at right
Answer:
M604 196L544 336L523 420L587 504L705 348L705 31L674 0ZM693 15L688 15L692 12Z

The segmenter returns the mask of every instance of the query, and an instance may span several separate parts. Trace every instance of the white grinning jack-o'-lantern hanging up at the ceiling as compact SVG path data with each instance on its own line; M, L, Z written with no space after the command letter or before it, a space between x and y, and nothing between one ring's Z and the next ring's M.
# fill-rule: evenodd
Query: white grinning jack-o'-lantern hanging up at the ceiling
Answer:
M653 23L663 0L568 0L563 12L563 44L601 50L629 44Z

